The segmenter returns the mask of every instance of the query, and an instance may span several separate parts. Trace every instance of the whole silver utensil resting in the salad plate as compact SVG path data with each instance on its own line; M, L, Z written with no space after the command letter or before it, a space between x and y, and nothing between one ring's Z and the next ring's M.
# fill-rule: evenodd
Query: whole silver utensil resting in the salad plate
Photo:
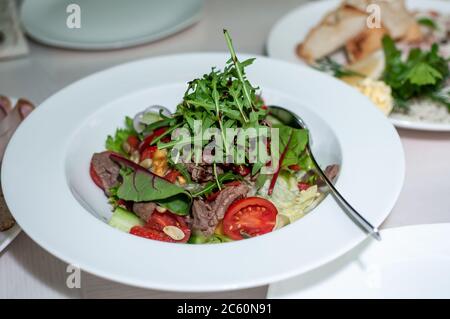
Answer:
M302 128L302 129L308 129L308 126L303 121L301 117L298 115L292 113L289 110L286 110L283 107L271 105L269 106L269 112L272 116L276 117L278 120L280 120L283 124L294 127L294 128ZM309 132L309 130L308 130ZM310 134L309 134L310 135ZM323 179L325 184L329 187L331 193L334 195L334 197L339 200L342 206L345 208L345 212L347 215L364 231L366 231L368 234L372 235L375 239L381 240L380 233L378 231L378 228L374 227L371 223L367 221L360 213L354 209L349 202L339 193L339 191L334 187L333 183L328 179L328 177L325 175L324 171L320 168L319 164L317 163L316 159L314 158L314 155L311 152L309 141L310 136L308 136L308 143L306 144L306 152L311 157L311 160L316 167L316 170L319 174L319 176Z

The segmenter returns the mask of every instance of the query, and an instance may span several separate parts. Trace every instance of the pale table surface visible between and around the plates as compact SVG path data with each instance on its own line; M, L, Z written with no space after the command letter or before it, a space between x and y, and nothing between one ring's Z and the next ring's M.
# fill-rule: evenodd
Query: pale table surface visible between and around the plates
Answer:
M207 0L198 24L156 43L117 51L69 51L30 41L30 55L0 61L0 94L27 97L39 104L88 74L126 61L224 51L224 27L240 52L264 54L272 25L304 2ZM450 222L450 133L399 130L399 134L406 155L405 186L383 227ZM263 286L222 293L170 293L137 289L87 273L82 273L80 289L69 289L66 267L22 232L0 253L0 298L264 298L267 291Z

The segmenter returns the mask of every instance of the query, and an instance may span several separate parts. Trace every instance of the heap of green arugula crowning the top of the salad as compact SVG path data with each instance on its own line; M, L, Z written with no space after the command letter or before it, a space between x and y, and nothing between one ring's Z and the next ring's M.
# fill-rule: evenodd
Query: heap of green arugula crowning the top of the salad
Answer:
M263 101L259 98L259 88L251 85L245 72L254 59L239 61L226 30L224 35L231 58L223 70L212 68L209 73L188 82L183 100L178 104L173 117L152 123L146 131L170 126L171 129L188 129L196 136L198 134L194 131L194 122L198 120L202 122L203 131L208 128L220 130L223 145L218 146L225 150L226 155L227 128L261 126L261 121L267 116L267 110L261 108ZM208 142L210 141L202 140L202 145ZM170 148L177 143L177 141L162 143L160 139L154 141L158 148Z

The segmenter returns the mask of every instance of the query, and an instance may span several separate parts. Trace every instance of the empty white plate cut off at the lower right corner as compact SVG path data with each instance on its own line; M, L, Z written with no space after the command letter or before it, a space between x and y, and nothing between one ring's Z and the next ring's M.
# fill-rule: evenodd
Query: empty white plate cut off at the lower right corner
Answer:
M450 298L450 224L381 232L344 256L272 284L268 298Z

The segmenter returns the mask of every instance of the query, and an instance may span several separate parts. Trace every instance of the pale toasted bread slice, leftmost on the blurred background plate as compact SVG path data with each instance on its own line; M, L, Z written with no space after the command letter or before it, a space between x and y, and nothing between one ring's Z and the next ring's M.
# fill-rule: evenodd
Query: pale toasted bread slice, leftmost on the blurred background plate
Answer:
M344 47L366 27L365 13L347 6L328 13L297 46L297 54L309 63Z

